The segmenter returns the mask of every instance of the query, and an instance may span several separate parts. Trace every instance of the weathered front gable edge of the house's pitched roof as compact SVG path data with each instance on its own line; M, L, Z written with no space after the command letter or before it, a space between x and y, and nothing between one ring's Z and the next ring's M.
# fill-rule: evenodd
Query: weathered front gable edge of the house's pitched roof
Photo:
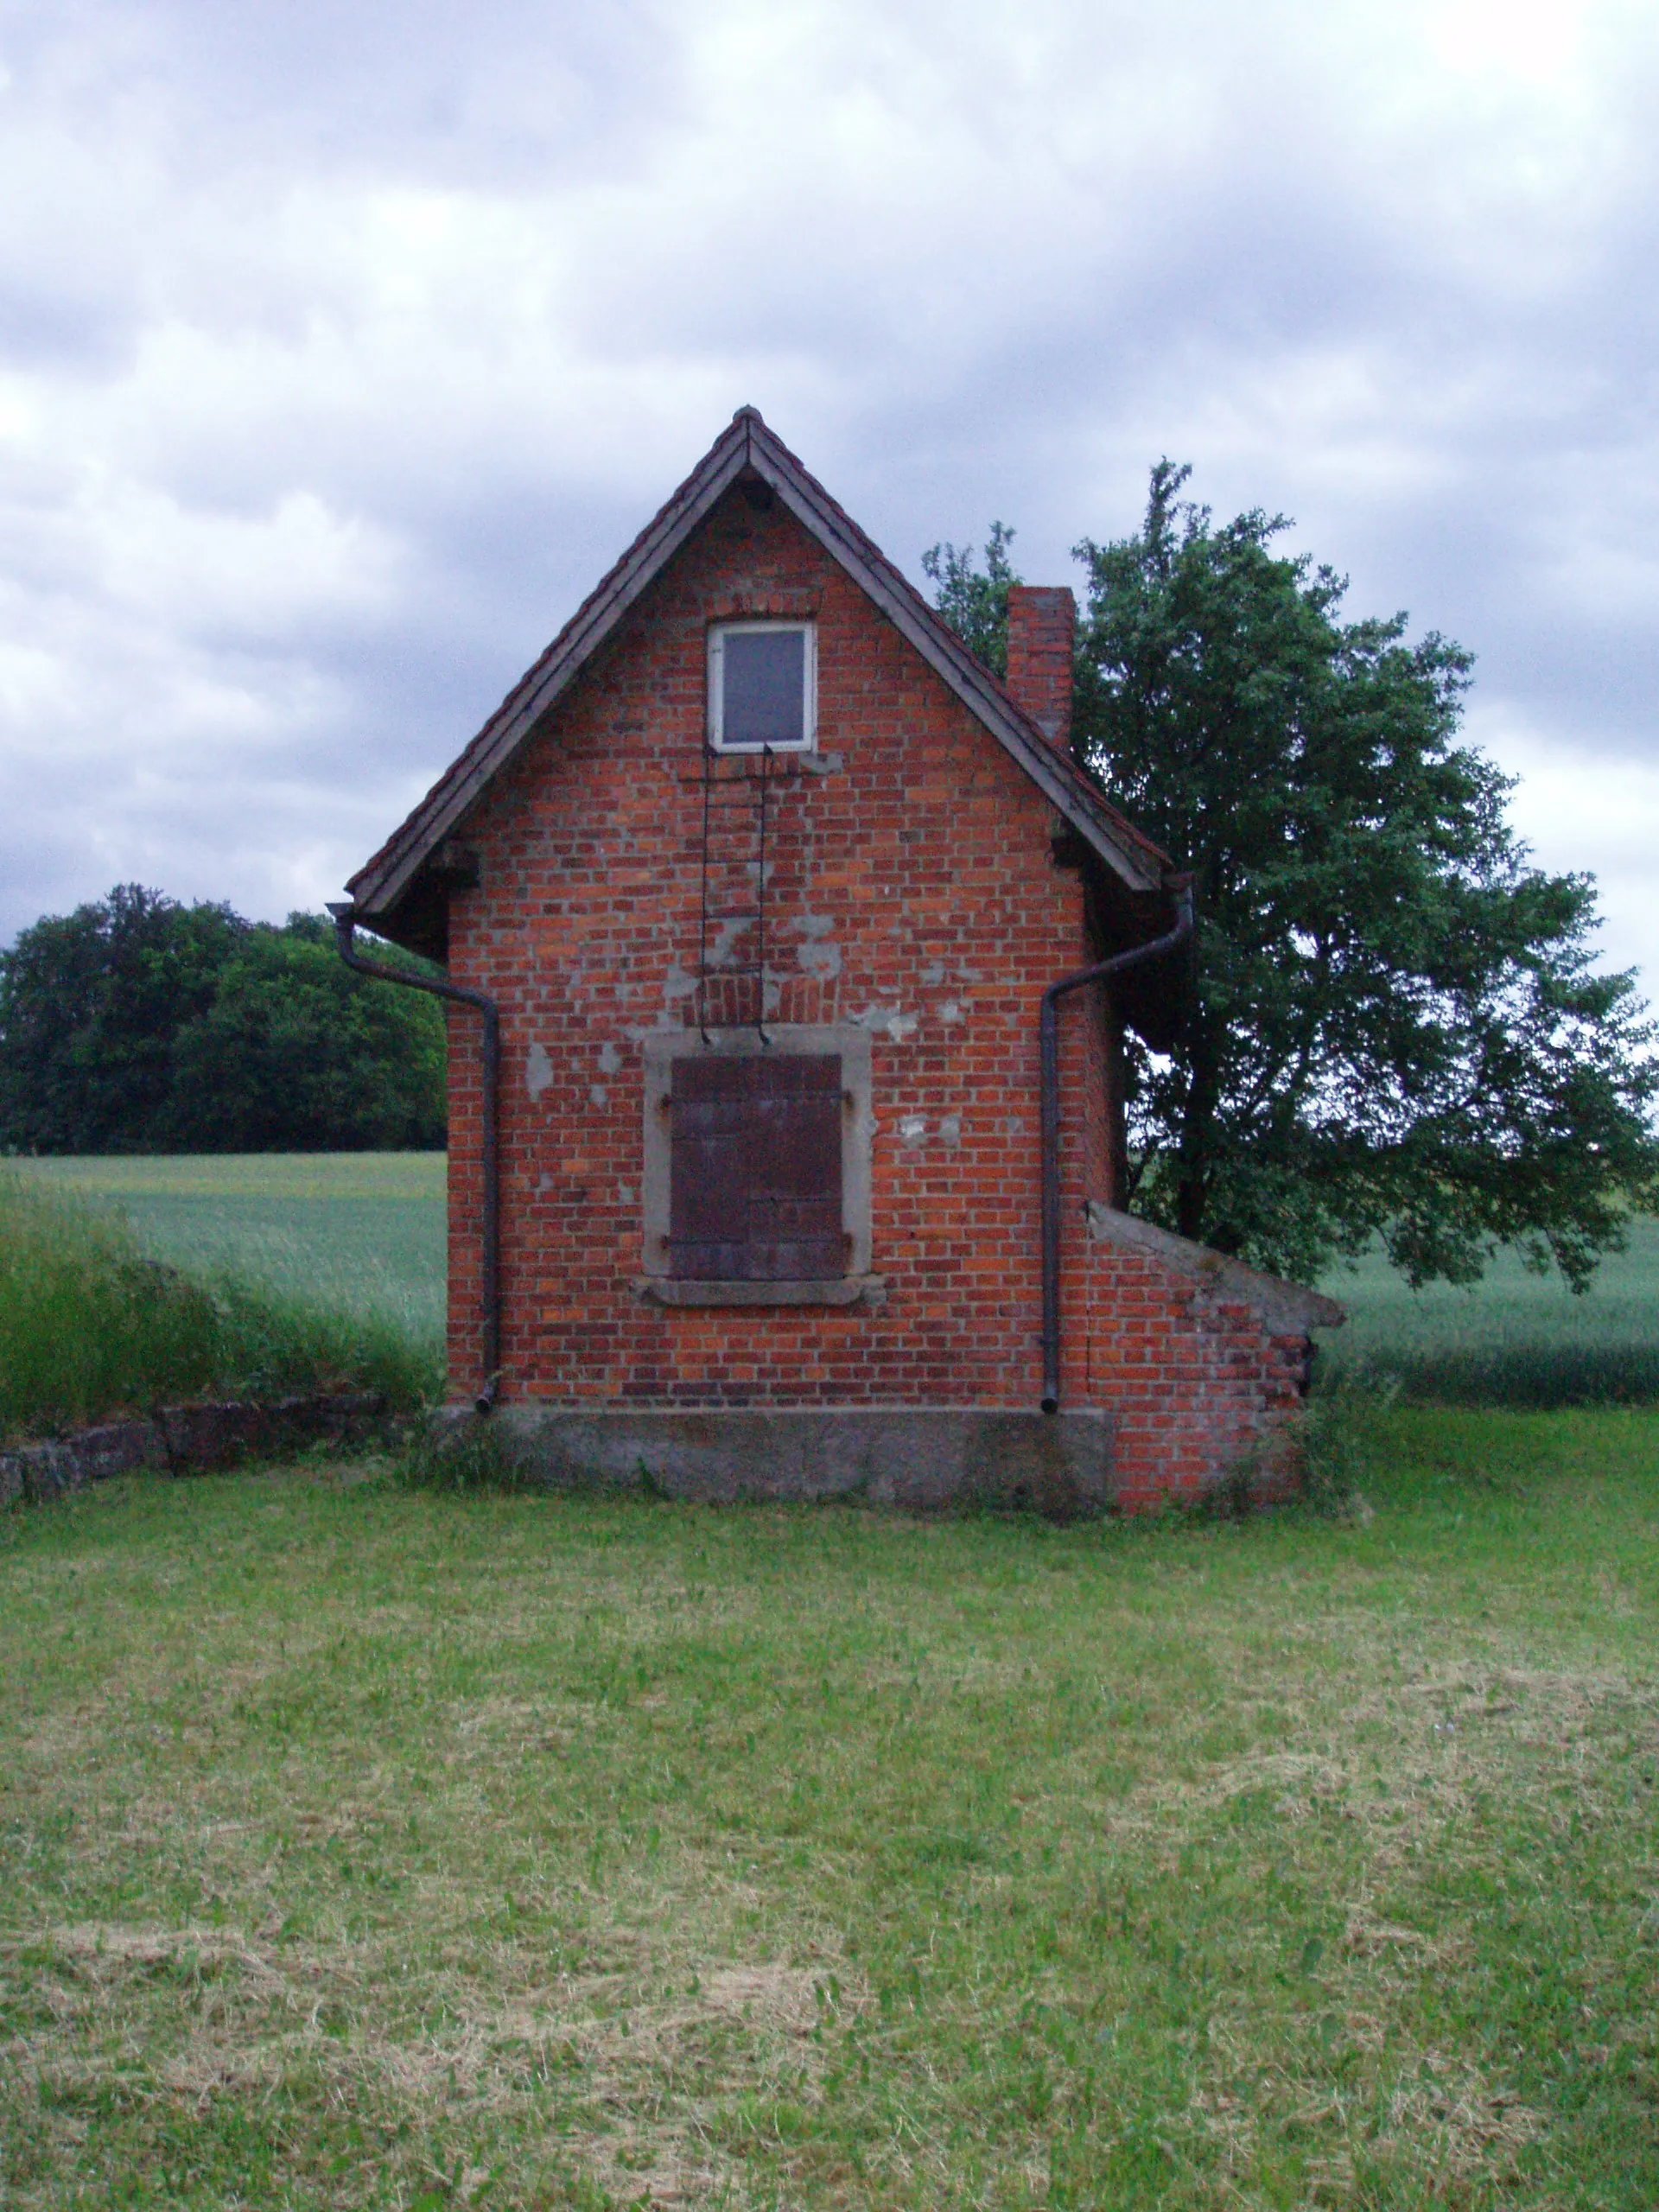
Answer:
M1006 688L973 659L960 637L909 584L858 524L807 476L754 407L739 407L679 491L588 593L540 661L518 681L460 759L445 770L400 830L352 876L347 889L369 927L392 918L422 865L467 818L489 783L526 743L549 708L571 688L628 608L686 544L697 524L741 476L757 476L812 538L876 602L962 706L1066 818L1084 845L1130 894L1157 891L1168 858L1108 805L1084 772L1024 714Z

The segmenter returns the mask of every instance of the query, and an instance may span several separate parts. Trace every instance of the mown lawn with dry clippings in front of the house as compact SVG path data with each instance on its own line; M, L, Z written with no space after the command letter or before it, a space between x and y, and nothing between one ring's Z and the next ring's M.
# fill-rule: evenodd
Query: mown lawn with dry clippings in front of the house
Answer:
M0 2201L1659 2203L1659 1416L1338 1526L0 1520Z

